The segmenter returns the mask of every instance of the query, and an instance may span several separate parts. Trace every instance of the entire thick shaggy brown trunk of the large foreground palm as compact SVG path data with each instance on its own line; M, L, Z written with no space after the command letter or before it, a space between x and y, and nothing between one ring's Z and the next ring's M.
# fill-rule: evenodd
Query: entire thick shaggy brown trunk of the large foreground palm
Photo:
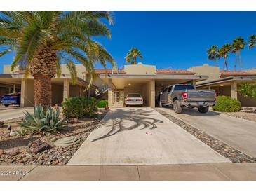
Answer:
M29 72L34 76L34 104L51 105L50 80L56 74L56 53L50 46L43 46L30 63Z

